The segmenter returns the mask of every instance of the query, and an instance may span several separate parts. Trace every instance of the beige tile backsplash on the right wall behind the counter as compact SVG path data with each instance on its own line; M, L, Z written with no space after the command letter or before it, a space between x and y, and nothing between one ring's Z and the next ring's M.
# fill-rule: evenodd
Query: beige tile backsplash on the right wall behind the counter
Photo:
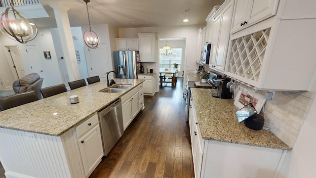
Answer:
M284 143L293 147L314 96L315 92L312 91L276 91L275 98L267 100L261 110L265 125Z

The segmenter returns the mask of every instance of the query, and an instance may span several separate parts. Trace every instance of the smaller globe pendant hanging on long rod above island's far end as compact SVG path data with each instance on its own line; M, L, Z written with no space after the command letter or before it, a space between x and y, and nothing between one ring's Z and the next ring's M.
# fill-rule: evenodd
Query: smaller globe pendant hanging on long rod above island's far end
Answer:
M91 25L90 25L90 17L89 17L89 10L88 10L88 2L90 0L83 0L87 6L87 12L88 12L88 20L89 20L89 30L85 31L83 34L83 39L85 45L87 45L91 49L95 49L99 46L99 37L98 35L91 30Z

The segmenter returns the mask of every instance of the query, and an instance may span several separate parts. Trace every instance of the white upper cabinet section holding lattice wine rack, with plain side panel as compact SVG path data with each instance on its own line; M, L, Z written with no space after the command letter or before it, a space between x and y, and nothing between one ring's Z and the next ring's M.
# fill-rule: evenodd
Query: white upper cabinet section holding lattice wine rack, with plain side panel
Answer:
M306 5L315 2L310 3ZM314 18L282 20L288 9L293 7L280 6L275 16L231 35L226 75L256 89L313 88L316 60L311 46L316 46L316 36L310 34L316 31L316 13Z

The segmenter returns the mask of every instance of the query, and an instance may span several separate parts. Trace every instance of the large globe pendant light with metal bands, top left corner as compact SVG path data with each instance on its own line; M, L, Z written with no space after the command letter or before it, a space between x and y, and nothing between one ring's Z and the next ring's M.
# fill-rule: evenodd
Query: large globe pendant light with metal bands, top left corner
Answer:
M34 21L24 13L15 10L13 0L10 0L10 5L11 7L0 13L2 34L22 44L35 39L38 35L38 28Z

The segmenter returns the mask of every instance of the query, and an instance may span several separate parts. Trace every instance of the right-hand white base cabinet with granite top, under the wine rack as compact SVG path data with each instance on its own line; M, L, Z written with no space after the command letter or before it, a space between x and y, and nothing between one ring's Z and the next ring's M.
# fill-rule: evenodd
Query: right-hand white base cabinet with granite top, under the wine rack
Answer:
M191 89L189 125L196 177L276 178L291 147L269 131L239 124L234 100L214 98L215 92Z

